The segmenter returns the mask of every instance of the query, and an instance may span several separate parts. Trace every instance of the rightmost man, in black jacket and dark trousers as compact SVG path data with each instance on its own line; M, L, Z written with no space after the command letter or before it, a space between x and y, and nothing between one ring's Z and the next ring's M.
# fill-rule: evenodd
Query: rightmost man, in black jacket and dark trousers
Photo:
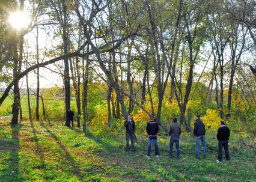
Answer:
M225 156L227 160L230 160L230 154L228 153L228 138L230 137L230 129L225 125L224 121L221 121L221 127L218 129L217 139L219 141L218 163L222 160L222 146L225 150Z

